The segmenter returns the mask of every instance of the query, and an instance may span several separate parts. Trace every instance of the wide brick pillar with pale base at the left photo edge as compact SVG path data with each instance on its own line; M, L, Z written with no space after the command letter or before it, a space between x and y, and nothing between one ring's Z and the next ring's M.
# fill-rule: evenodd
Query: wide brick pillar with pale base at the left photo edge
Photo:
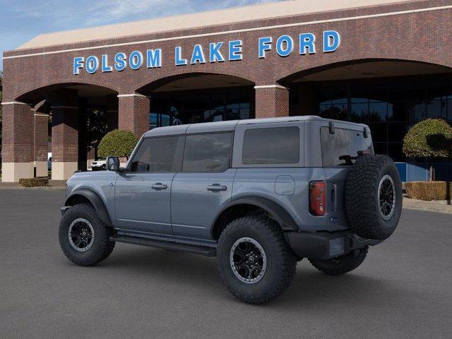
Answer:
M34 117L23 102L4 102L2 133L2 182L34 177Z

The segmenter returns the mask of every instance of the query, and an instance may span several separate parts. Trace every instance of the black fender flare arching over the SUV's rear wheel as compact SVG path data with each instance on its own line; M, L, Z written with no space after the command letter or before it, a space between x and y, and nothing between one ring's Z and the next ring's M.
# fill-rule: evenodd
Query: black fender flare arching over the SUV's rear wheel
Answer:
M211 229L213 230L214 225L218 221L218 218L220 218L220 215L227 210L227 208L231 208L232 206L237 205L254 205L258 208L262 208L263 210L266 210L267 213L269 213L273 219L278 222L278 224L281 226L281 228L285 231L296 231L299 230L297 224L292 219L289 213L287 213L287 210L282 208L278 203L275 203L274 201L271 201L267 198L261 198L259 196L246 196L243 198L237 198L235 200L230 201L226 206L220 210L220 213L218 213L215 216L215 219L213 221Z

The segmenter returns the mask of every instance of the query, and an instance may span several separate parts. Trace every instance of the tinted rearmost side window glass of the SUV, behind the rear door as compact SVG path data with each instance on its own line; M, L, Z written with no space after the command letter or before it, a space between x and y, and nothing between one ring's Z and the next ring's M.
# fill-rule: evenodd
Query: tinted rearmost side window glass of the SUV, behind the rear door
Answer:
M297 164L299 162L299 128L247 129L244 133L244 165Z

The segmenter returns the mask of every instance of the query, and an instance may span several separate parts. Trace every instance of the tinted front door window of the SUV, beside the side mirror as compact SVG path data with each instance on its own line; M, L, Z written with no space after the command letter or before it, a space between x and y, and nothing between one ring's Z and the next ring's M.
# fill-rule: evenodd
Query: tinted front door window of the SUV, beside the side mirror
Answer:
M183 138L165 136L143 140L131 162L131 172L178 172Z

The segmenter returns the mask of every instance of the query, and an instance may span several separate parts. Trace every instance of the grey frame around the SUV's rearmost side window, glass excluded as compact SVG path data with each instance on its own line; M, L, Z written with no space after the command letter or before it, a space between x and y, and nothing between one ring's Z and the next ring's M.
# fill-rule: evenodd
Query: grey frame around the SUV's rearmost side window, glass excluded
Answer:
M295 168L304 167L304 123L305 121L266 122L254 124L238 124L234 136L233 168ZM278 127L297 127L299 129L299 161L292 164L244 164L243 144L245 131L249 129L273 129Z

